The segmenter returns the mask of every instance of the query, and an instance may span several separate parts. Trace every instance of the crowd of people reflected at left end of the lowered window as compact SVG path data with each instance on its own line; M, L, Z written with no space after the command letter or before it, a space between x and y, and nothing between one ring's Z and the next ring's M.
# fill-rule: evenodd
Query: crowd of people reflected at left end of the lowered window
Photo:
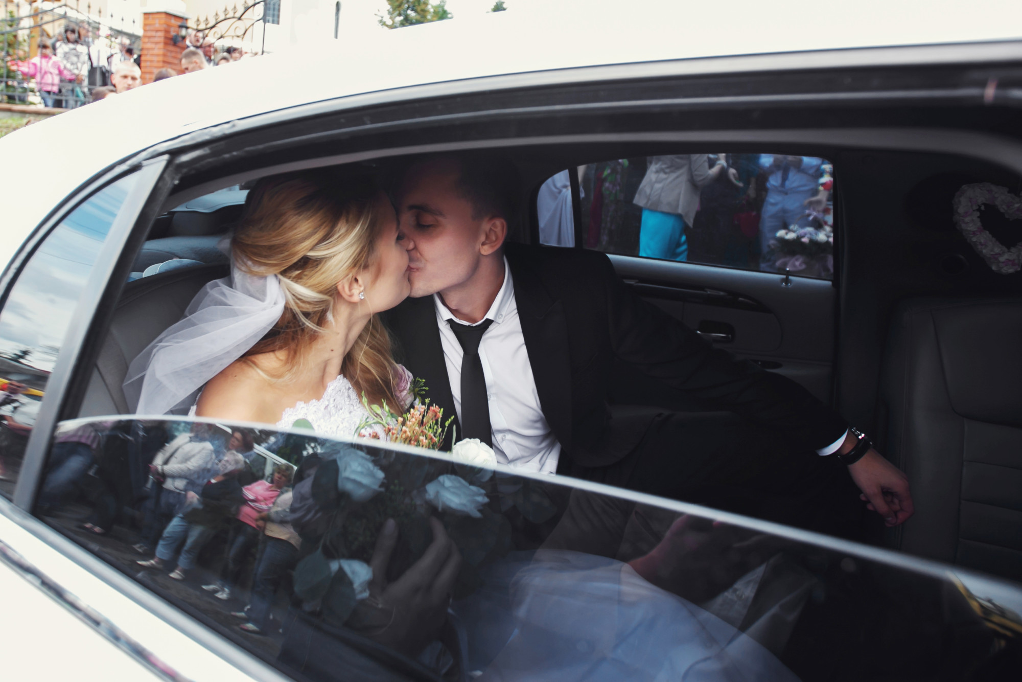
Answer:
M234 597L239 627L260 634L300 547L289 524L295 469L279 463L267 474L247 430L195 423L175 436L173 428L106 421L59 431L40 512L84 503L91 511L79 518L81 530L106 536L121 526L118 535L137 539L132 550L146 557L138 565L173 567L173 580L225 602Z

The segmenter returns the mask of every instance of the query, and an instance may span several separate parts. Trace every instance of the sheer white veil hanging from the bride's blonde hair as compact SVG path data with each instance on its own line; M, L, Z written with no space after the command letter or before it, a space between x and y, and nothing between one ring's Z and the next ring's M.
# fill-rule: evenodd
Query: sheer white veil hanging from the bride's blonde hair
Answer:
M232 260L231 276L203 286L181 321L129 365L124 382L128 405L136 414L190 408L205 382L254 346L283 312L277 276L254 277Z

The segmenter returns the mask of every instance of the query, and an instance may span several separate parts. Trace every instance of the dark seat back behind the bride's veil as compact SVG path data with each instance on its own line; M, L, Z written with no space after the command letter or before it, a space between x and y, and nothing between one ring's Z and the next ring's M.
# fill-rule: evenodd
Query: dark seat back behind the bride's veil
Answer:
M202 265L155 274L125 285L79 416L133 413L134 406L129 406L124 393L128 365L181 319L206 282L229 272L226 265Z

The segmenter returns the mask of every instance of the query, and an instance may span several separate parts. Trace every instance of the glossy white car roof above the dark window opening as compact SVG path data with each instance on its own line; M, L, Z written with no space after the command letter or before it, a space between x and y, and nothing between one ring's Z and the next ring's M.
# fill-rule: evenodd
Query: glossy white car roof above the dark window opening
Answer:
M1017 1L789 0L783 6L739 1L681 10L673 3L630 3L625 13L619 5L616 12L598 11L598 4L586 12L574 3L543 4L542 11L342 35L145 85L15 131L0 139L0 156L19 160L5 189L8 196L31 198L6 210L0 263L56 203L117 162L218 124L317 101L347 97L357 105L365 102L356 96L380 92L415 98L426 94L415 86L435 83L458 83L461 92L487 90L495 84L480 79L515 74L586 81L601 77L580 67L607 64L681 64L685 73L722 73L739 67L728 61L734 55L797 57L760 70L904 63L896 50L878 55L863 49L885 46L1016 41L998 54L1022 60ZM909 63L925 63L937 54L916 54ZM607 72L602 78L613 76ZM528 84L517 79L503 87ZM80 143L83 131L102 144Z

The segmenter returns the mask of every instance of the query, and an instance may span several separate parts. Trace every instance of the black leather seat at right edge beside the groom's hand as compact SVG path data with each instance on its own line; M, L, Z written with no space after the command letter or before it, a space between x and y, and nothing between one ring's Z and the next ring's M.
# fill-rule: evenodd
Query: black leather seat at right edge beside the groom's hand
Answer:
M903 302L882 405L916 505L898 548L1022 581L1022 300Z

